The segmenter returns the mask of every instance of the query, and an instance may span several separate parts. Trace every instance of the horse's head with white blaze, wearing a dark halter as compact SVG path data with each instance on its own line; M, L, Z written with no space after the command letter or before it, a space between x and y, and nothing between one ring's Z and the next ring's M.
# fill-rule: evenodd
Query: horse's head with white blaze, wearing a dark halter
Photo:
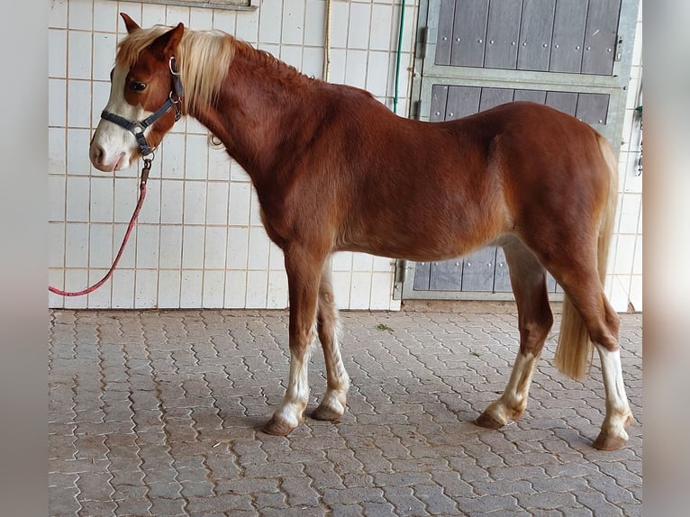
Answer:
M144 31L127 14L122 16L129 34L118 50L110 98L89 149L91 163L105 172L127 168L149 155L183 109L176 60L183 24Z

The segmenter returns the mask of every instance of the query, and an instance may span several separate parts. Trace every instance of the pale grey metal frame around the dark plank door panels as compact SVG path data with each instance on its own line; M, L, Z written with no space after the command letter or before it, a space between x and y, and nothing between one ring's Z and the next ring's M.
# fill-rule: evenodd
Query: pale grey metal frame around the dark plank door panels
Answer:
M604 134L609 141L621 142L638 9L639 0L622 0L612 75L598 76L565 72L437 65L435 57L440 0L420 0L410 116L421 121L430 120L431 87L434 85L606 94L610 95L606 123L591 125L596 131ZM622 74L623 71L624 74ZM620 152L620 146L621 143L613 146L616 157ZM413 261L396 261L394 299L514 300L513 293L414 291L414 268L415 262ZM559 293L549 293L549 298L552 300L559 300L562 297L563 295Z

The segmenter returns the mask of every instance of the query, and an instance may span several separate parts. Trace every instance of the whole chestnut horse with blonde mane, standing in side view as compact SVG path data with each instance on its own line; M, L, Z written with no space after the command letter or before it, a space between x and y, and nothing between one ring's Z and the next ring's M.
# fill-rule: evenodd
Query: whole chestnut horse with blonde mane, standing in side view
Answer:
M477 424L499 428L525 409L553 323L548 270L566 297L557 367L584 376L594 345L606 402L594 446L625 444L632 414L619 318L602 286L617 192L604 137L531 103L451 122L404 119L366 91L306 77L229 34L123 20L128 34L90 159L106 172L129 167L189 115L249 174L289 286L289 378L265 431L285 435L303 422L317 335L328 381L313 417L336 420L345 411L350 378L340 358L331 253L430 261L492 243L503 247L510 269L520 349L504 394Z

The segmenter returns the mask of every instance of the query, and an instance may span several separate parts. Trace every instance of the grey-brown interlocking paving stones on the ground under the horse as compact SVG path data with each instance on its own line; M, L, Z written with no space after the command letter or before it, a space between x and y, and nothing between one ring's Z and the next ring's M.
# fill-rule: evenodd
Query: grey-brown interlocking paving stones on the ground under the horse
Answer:
M598 359L560 376L553 336L522 420L472 423L508 380L514 313L341 318L346 413L274 437L259 426L284 394L285 311L52 311L50 515L641 515L640 314L622 314L636 422L613 452L591 446Z

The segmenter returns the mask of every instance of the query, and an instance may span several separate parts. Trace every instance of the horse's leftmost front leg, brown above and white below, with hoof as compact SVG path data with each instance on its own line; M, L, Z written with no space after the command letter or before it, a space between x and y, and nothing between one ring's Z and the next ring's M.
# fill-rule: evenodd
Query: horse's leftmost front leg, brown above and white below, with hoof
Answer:
M290 374L283 402L264 426L268 434L281 436L304 422L309 401L307 371L316 339L316 304L323 265L323 258L316 259L295 246L285 249L285 259L290 299Z

